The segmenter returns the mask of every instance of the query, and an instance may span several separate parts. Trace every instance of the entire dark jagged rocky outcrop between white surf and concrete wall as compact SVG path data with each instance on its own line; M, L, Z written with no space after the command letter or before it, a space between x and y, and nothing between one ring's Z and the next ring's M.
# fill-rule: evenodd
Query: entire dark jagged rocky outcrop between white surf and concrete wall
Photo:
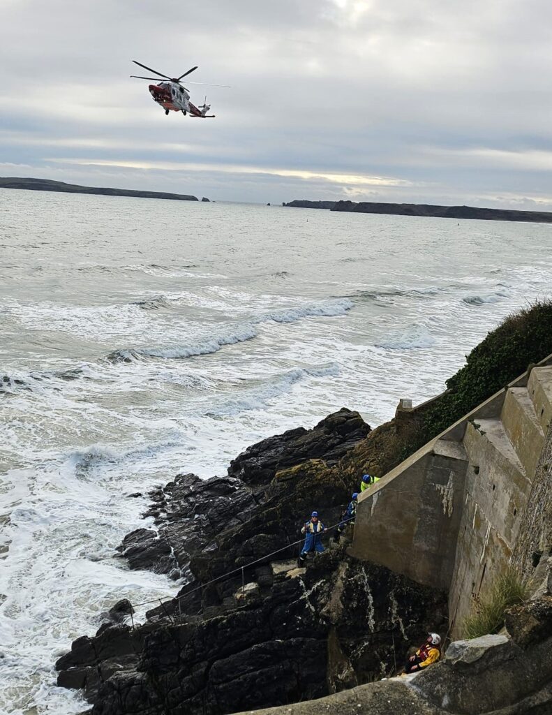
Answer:
M444 593L350 558L346 539L307 568L286 548L312 508L339 520L351 455L377 432L340 410L253 445L224 477L153 490L155 529L127 535L121 556L187 584L134 628L116 604L57 661L59 685L84 689L94 715L222 715L366 683L428 628L446 631Z

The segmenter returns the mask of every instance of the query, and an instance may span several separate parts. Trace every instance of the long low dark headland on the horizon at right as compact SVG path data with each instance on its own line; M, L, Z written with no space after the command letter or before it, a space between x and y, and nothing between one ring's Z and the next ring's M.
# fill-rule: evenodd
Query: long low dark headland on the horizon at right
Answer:
M282 206L302 209L330 209L364 214L395 216L425 216L448 219L480 219L487 221L529 221L552 223L552 212L518 211L516 209L486 209L473 206L433 206L431 204L386 204L354 201L290 201Z

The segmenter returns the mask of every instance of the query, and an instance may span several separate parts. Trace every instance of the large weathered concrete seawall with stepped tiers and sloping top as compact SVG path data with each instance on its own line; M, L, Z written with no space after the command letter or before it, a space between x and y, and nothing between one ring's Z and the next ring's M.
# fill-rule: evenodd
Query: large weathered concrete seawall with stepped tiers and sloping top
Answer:
M352 556L449 594L460 636L512 561L552 418L552 355L359 497Z

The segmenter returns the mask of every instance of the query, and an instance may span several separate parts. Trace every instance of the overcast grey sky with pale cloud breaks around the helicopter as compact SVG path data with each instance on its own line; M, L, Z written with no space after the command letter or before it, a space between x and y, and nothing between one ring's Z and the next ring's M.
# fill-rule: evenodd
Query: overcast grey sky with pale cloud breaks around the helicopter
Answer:
M0 0L0 59L0 176L552 209L550 0Z

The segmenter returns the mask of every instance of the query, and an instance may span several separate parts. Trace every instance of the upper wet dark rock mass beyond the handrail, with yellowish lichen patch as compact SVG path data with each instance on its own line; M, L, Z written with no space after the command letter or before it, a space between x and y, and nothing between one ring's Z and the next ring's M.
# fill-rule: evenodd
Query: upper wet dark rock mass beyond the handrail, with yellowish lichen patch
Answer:
M335 522L350 494L339 475L325 473L369 432L358 413L343 409L311 430L288 430L252 445L225 477L177 475L149 494L144 516L154 518L156 529L129 533L122 556L130 568L210 581L297 541L315 507L327 507L326 522Z

